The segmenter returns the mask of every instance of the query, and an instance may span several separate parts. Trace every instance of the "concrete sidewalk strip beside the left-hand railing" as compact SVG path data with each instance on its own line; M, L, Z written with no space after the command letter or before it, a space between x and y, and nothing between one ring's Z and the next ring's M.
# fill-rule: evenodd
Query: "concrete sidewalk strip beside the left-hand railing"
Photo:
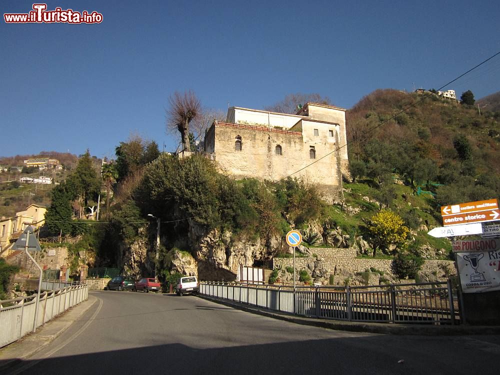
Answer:
M57 336L78 320L97 299L88 295L88 299L69 308L52 320L29 333L19 340L0 348L0 373L19 361L29 358L39 350L49 345Z

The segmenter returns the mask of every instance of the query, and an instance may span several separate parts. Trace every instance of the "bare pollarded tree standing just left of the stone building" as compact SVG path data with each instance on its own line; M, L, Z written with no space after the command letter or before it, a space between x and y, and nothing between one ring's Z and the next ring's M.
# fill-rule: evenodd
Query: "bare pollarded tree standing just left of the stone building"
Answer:
M199 114L200 103L191 90L175 91L168 98L170 108L166 111L167 129L177 129L182 139L182 149L189 149L189 122Z

